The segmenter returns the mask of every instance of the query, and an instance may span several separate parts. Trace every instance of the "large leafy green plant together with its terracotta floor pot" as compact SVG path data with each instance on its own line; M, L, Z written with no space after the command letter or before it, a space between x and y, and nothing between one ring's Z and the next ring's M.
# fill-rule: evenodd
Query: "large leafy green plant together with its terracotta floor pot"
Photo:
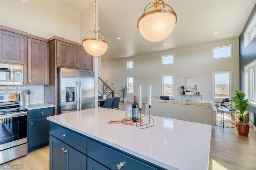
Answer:
M248 104L248 99L244 99L245 94L241 92L241 90L235 91L235 97L231 97L232 101L236 104L235 107L240 111L238 117L239 117L239 123L237 123L237 131L239 135L242 136L248 136L249 133L249 124L244 123L244 112L246 109L251 108Z

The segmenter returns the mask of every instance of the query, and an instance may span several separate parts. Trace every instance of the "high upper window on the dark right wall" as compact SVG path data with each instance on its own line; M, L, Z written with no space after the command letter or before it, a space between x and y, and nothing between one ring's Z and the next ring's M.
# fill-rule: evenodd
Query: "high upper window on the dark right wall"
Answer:
M254 40L256 37L256 14L254 14L252 21L244 32L244 49Z

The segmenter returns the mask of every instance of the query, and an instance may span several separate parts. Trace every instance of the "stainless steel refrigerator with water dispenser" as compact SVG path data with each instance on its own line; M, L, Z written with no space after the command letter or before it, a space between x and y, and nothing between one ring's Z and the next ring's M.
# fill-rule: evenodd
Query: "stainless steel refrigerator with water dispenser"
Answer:
M58 68L58 114L95 107L94 72Z

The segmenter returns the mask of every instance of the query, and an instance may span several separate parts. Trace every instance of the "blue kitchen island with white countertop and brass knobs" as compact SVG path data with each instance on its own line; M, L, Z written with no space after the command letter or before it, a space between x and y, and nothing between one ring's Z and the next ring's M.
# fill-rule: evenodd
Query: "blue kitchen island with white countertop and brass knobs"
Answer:
M144 129L109 124L122 120L124 115L124 111L92 108L47 117L50 121L50 169L54 163L67 161L73 154L76 165L80 164L83 169L89 166L117 169L119 165L121 169L132 166L132 169L208 170L210 125L156 116L152 116L155 125ZM143 120L148 122L146 117ZM60 160L54 150L61 154L70 151L70 156Z

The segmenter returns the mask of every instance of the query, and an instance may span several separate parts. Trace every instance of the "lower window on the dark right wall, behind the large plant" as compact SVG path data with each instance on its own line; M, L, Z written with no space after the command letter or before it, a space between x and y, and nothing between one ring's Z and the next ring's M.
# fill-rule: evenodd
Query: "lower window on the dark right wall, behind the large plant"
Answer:
M244 93L246 99L256 102L256 60L244 67Z

